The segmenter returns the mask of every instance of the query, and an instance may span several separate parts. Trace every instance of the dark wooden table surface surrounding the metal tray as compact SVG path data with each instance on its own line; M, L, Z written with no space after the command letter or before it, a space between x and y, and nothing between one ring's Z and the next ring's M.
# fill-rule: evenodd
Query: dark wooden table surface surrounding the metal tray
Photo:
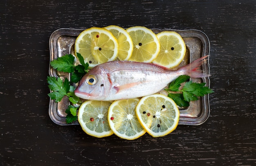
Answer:
M49 118L49 37L58 28L198 29L210 40L211 113L199 126L128 141L94 138ZM255 166L255 0L2 0L2 166Z

